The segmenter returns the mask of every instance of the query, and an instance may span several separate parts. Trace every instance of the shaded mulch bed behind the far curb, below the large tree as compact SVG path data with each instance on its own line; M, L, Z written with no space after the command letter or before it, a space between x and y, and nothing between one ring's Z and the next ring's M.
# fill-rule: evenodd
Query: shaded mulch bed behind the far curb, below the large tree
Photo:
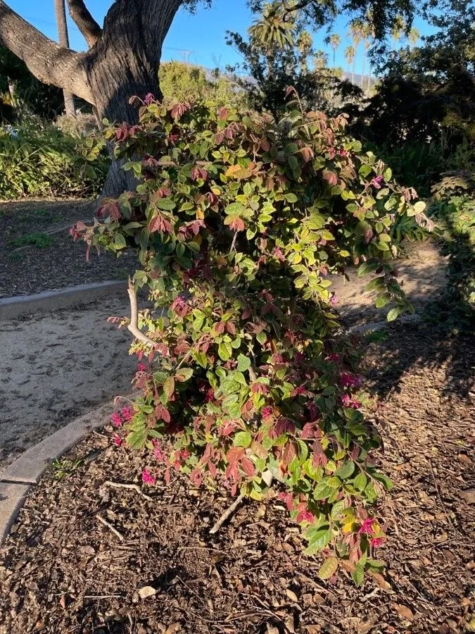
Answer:
M32 294L88 282L127 279L133 254L119 261L72 242L70 227L90 222L94 204L84 200L0 202L0 297Z

